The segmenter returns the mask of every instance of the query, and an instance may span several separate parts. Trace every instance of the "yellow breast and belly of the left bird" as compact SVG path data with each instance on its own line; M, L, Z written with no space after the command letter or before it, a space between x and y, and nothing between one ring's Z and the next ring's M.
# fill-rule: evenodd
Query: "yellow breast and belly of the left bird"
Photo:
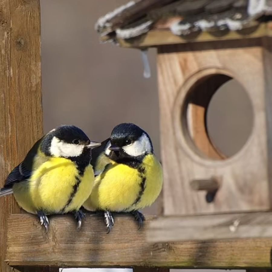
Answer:
M92 191L93 182L91 165L79 176L71 160L51 158L33 172L28 182L15 185L14 195L28 212L65 213L82 206Z

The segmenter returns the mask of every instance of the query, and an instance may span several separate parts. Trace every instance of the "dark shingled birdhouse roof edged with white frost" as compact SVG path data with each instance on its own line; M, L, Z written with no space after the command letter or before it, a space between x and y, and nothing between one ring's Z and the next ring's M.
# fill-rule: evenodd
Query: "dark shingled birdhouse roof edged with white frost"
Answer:
M149 42L156 45L175 43L171 35L188 41L203 32L215 39L228 37L229 32L260 36L264 34L260 26L272 20L271 15L272 0L138 0L102 16L95 28L103 42L135 44L136 40L139 46L149 45L139 42L148 33L167 31L168 36Z

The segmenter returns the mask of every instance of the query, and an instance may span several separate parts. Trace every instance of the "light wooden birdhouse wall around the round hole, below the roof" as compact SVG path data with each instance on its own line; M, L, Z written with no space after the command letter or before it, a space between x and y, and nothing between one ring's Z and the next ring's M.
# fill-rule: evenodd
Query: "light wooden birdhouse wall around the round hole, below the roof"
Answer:
M165 215L270 209L269 44L268 40L252 39L158 48ZM205 118L209 99L230 78L238 80L247 92L254 120L241 150L224 158L206 133ZM214 177L220 188L214 201L207 203L206 192L192 190L190 183Z

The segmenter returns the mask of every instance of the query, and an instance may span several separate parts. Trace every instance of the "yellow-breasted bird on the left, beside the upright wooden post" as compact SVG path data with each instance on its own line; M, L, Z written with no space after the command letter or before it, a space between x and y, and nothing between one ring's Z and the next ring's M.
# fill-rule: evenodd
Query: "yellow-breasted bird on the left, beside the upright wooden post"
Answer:
M51 214L73 213L80 228L85 218L80 208L94 184L91 148L99 145L74 125L52 129L11 171L0 196L13 193L22 209L37 214L46 232Z

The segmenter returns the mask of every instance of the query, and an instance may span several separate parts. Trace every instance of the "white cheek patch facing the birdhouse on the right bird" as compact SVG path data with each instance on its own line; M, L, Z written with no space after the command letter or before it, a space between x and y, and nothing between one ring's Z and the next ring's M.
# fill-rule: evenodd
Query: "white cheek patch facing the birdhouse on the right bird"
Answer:
M122 147L125 153L130 156L138 157L145 153L151 153L151 143L145 133L131 145L125 145Z

